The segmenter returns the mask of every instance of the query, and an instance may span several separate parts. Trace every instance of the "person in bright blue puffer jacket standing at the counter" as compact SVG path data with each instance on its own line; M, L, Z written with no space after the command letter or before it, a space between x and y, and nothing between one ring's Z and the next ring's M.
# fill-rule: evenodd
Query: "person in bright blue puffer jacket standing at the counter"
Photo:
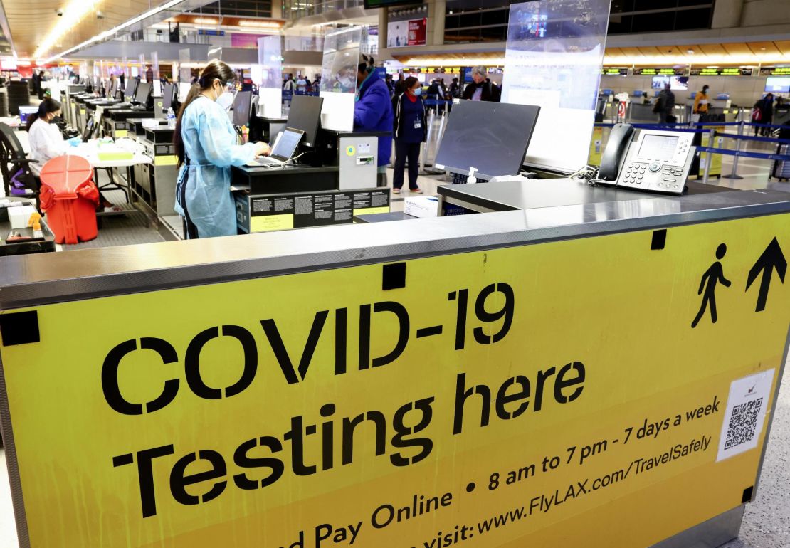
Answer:
M393 130L393 106L389 99L389 88L378 76L373 66L374 60L364 55L357 66L357 92L354 105L355 131ZM378 186L386 186L386 167L392 153L392 137L378 137Z

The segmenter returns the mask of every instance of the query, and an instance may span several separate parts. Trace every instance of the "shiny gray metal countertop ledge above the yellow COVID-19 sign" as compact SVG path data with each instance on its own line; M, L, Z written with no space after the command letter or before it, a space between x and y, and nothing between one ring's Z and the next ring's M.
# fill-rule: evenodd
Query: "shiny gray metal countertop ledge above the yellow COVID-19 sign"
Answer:
M777 190L610 191L616 199L578 203L570 192L570 204L525 210L5 257L0 309L790 212L790 194ZM545 203L529 190L527 199Z

